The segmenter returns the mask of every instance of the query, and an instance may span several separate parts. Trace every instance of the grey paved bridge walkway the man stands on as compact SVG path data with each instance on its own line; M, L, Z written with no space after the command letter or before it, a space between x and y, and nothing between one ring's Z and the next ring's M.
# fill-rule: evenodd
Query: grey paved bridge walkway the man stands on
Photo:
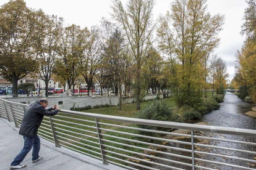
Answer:
M19 130L5 119L0 118L0 170L7 170L10 168L11 162L15 156L23 148L23 137L19 135ZM101 161L90 160L84 155L72 152L65 148L56 148L50 142L41 139L40 155L43 160L32 163L32 151L28 153L23 164L27 164L24 170L120 170L114 165L104 165Z

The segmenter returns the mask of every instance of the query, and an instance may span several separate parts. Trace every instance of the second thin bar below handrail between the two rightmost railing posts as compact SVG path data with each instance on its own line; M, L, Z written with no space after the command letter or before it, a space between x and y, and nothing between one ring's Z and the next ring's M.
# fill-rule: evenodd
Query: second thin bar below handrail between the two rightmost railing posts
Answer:
M179 141L179 140L164 139L164 138L160 138L160 137L143 136L140 134L132 134L132 133L127 133L127 132L114 131L114 130L105 129L105 128L99 128L99 129L102 131L116 132L119 134L125 134L125 135L129 135L129 136L143 137L143 138L147 138L147 139L154 139L154 140L173 142L173 143L177 143L177 144L191 145L191 142L183 142L183 141Z

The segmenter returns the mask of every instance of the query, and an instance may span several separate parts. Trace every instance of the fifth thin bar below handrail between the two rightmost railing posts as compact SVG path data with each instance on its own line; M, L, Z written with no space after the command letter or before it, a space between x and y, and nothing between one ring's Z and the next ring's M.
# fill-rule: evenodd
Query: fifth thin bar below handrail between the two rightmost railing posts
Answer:
M183 162L179 162L179 161L168 160L168 159L165 159L165 158L160 158L160 157L157 157L157 156L146 155L146 154L143 154L143 153L133 152L133 151L130 151L130 150L124 150L122 148L111 147L111 146L105 145L105 144L103 144L103 146L109 147L109 148L113 148L115 150L120 150L122 152L129 152L129 153L132 153L134 155L140 155L140 156L145 156L147 158L153 158L153 159L156 159L156 160L166 161L166 162L169 162L169 163L176 163L176 164L182 164L182 165L185 165L185 166L192 166L192 164L183 163Z

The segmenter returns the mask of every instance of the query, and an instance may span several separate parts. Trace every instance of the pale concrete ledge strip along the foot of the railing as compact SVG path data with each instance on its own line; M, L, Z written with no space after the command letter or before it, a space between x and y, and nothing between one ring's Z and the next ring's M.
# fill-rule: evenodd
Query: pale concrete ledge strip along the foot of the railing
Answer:
M7 119L3 119L3 118L0 118L0 119L2 119L7 124L9 124L9 126L11 126L13 129L15 129L15 131L19 132L19 128L15 127L14 123L9 122ZM65 155L72 156L73 158L76 158L77 160L83 161L88 164L92 164L93 166L96 166L98 168L102 168L102 169L106 169L106 170L127 170L127 169L121 168L119 166L116 166L114 164L109 164L109 165L102 164L102 161L100 161L100 160L96 160L95 158L91 158L90 156L83 155L82 153L74 152L73 150L70 150L68 148L55 147L55 145L52 142L49 142L48 140L45 140L41 137L40 137L40 139L41 139L41 144L45 145L45 147L52 148L58 152L65 154Z

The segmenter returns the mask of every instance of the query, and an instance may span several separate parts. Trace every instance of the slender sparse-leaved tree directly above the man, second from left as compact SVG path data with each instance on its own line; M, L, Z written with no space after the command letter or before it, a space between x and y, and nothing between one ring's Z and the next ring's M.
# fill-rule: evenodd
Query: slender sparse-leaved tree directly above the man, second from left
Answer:
M40 63L39 76L45 81L45 95L48 97L48 84L53 75L53 68L59 51L62 18L38 12L35 50L37 62Z

